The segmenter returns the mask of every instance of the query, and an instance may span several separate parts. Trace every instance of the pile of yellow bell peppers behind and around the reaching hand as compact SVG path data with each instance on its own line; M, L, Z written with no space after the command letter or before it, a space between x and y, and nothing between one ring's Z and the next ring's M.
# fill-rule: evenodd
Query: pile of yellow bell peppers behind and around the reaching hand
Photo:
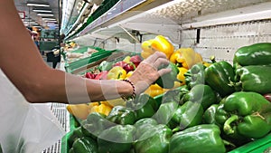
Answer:
M141 56L145 59L154 52L162 52L166 55L170 62L178 66L179 73L177 75L178 81L174 82L174 87L177 88L185 84L184 73L187 72L192 65L202 62L200 53L194 52L192 48L180 48L174 51L173 44L170 43L163 35L157 35L154 39L147 40L141 44ZM145 93L152 97L168 91L157 84L151 85Z

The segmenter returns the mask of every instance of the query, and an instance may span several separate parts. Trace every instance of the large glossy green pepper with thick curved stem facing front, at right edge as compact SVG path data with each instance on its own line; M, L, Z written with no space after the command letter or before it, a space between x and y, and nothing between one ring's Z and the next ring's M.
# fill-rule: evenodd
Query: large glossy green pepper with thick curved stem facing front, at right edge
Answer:
M257 92L234 92L220 107L225 113L224 119L227 119L223 130L228 135L262 138L271 130L270 108L271 103ZM265 112L266 109L269 110Z

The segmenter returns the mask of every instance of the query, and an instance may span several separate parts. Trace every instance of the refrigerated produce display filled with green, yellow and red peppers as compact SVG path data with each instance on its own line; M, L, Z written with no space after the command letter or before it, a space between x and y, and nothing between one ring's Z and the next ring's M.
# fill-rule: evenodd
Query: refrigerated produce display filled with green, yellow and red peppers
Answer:
M270 152L270 8L270 0L107 0L70 23L65 41L79 47L65 53L66 72L124 80L157 51L172 72L133 100L67 105L61 153Z

